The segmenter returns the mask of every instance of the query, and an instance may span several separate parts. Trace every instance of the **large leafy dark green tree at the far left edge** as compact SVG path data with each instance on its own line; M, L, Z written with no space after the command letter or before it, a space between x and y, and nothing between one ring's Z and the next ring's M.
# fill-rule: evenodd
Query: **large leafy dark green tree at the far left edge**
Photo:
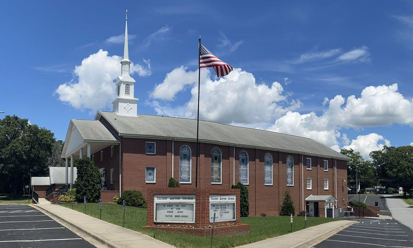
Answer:
M47 175L54 134L16 115L0 120L0 184L12 198L32 176Z

